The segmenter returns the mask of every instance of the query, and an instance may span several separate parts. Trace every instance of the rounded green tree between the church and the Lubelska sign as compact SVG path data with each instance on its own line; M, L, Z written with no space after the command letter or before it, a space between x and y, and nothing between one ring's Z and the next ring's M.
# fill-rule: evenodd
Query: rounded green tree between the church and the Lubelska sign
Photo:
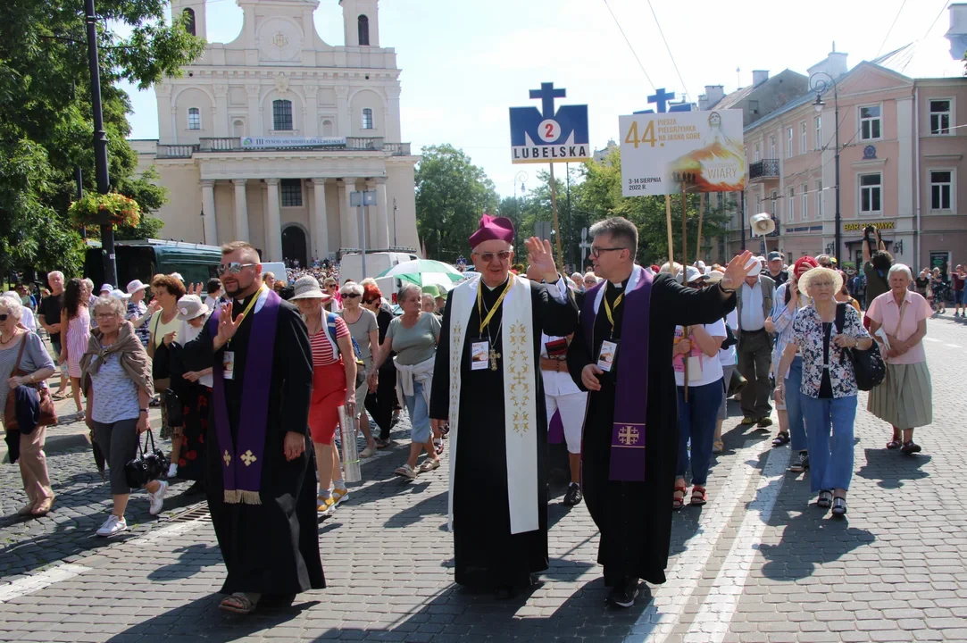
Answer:
M428 258L454 263L469 253L467 238L500 200L483 168L453 145L423 149L416 172L417 230Z

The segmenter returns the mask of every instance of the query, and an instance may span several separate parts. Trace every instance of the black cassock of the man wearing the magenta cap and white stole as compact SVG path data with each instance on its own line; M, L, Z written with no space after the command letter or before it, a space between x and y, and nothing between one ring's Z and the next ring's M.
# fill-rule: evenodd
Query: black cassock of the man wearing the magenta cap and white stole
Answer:
M504 286L489 290L484 286L484 306L492 309ZM470 370L470 344L480 341L481 317L476 303L463 341L460 363L460 405L454 475L454 560L456 582L488 589L527 585L530 573L547 569L547 408L544 405L543 382L540 372L541 333L567 336L577 326L577 308L568 292L560 304L551 297L546 287L531 283L531 304L534 333L534 366L537 370L538 430L538 516L540 529L522 534L511 534L511 510L507 488L507 439L504 434L504 371L503 361L498 370ZM436 350L433 367L433 388L430 395L431 418L451 417L450 409L450 337L453 293L443 313L443 329ZM494 336L494 347L504 353L501 332L497 329L503 307L497 309L488 327ZM485 317L485 313L484 313ZM484 330L484 337L486 330ZM513 493L513 489L511 490Z

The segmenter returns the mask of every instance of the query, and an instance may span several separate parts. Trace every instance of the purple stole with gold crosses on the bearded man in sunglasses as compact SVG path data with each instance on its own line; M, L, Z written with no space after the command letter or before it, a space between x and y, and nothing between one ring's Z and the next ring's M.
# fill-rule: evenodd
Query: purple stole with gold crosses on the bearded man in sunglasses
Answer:
M255 295L258 296L257 294ZM259 487L265 458L265 434L269 420L269 390L272 385L273 346L275 345L278 307L275 292L258 314L251 315L249 350L242 385L242 410L239 413L238 442L232 441L225 400L225 380L220 360L212 367L212 403L215 405L215 431L221 451L221 480L224 500L228 504L261 505ZM208 320L208 332L214 338L219 332L219 309ZM259 341L256 345L254 342Z

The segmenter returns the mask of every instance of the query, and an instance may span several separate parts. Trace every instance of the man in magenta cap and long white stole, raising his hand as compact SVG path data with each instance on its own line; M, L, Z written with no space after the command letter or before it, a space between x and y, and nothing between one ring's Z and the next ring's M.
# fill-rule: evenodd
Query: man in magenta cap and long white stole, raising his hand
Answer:
M527 241L540 280L510 273L513 223L484 215L470 237L479 277L443 314L429 415L450 421L456 582L510 598L547 569L547 412L541 335L570 335L577 308L550 244Z

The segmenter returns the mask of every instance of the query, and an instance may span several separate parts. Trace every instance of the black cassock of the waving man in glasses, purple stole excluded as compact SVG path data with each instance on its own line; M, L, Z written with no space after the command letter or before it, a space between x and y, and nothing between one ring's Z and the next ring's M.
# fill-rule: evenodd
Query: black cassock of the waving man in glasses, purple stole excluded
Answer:
M613 305L622 288L605 285L604 297ZM585 306L594 306L585 297ZM735 296L723 301L718 286L705 290L685 288L668 275L658 275L652 284L651 329L648 338L648 412L645 431L645 481L608 480L611 461L611 424L614 422L617 363L599 376L601 391L588 396L584 423L581 486L588 511L601 531L598 563L604 567L608 587L626 578L641 578L653 584L665 581L668 545L671 541L671 501L678 458L678 397L671 351L676 326L710 324L735 307ZM624 306L614 310L614 336L620 338L637 329L622 324ZM595 318L594 350L584 332L574 334L568 350L568 368L581 391L581 370L597 363L601 341L611 335L604 303ZM618 348L619 361L628 359Z

